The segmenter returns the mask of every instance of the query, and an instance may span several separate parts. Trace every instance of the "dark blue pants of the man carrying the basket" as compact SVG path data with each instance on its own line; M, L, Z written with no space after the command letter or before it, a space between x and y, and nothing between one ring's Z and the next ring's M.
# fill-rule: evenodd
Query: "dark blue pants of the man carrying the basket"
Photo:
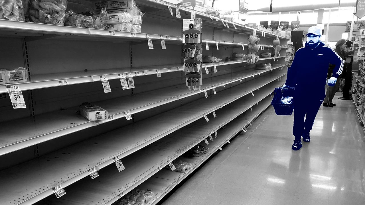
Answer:
M312 130L314 119L318 113L322 101L296 100L294 102L294 126L293 135L296 140L301 139L304 132ZM306 116L307 115L307 116ZM304 116L306 120L304 121Z

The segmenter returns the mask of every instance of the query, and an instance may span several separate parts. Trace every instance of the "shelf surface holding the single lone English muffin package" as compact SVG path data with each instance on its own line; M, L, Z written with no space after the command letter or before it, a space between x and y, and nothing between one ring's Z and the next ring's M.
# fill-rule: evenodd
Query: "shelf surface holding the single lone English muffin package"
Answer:
M273 65L270 70L282 69L283 67L285 67L285 64ZM240 79L249 78L268 71L269 70L243 70L233 74L217 76L212 78L213 80L211 82L203 84L203 88L204 90L210 90L222 85L239 82ZM125 111L130 111L130 114L132 115L201 92L204 91L189 91L186 88L181 89L180 86L178 88L176 88L176 86L170 86L169 88L135 94L133 98L130 96L120 97L95 103L108 110L109 114L114 116L114 120L116 120L124 117L123 113ZM76 111L77 108L75 107L69 108L68 110L37 115L35 116L35 120L27 117L24 119L3 122L3 126L0 128L0 132L3 133L3 135L0 136L0 155L108 122L108 120L88 121L81 115L76 114ZM18 127L17 124L19 123L22 124L23 129L16 129ZM16 130L16 132L14 132L14 130Z

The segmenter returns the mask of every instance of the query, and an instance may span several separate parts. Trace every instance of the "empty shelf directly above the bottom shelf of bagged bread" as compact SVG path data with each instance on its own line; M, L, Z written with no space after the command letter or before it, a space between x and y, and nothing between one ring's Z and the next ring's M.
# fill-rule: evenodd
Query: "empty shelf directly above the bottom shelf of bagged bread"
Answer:
M141 184L153 174L157 173L168 162L176 159L184 154L196 144L214 133L223 125L226 125L239 114L253 107L256 102L261 101L273 91L273 88L283 85L284 81L275 81L265 86L255 96L245 96L239 101L235 101L222 110L217 111L217 117L210 116L209 122L205 119L196 121L187 127L180 129L177 132L170 134L149 146L135 152L122 159L124 167L121 173L118 172L115 166L108 166L99 171L99 177L95 180L84 178L74 185L66 188L66 194L56 201L64 201L69 205L73 204L95 204L104 205L112 204L118 199L118 194L127 193L134 187ZM269 97L270 98L270 97ZM259 102L259 105L261 102ZM266 105L267 106L267 105ZM255 109L255 108L254 108ZM249 111L250 112L250 111ZM249 122L246 121L246 124ZM243 127L243 124L241 126ZM241 127L241 128L242 128ZM214 138L212 144L222 144L223 142L221 131L218 131L218 138ZM210 140L209 140L210 141ZM148 154L146 154L148 153ZM88 190L87 187L93 187ZM104 196L104 197L101 197ZM49 203L52 204L52 203Z

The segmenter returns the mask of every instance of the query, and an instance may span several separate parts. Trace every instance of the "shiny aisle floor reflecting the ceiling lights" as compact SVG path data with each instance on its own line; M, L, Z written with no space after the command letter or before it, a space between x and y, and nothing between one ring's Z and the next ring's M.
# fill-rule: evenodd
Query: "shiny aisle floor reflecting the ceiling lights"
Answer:
M311 142L291 150L293 116L270 107L162 205L363 205L365 140L350 100L321 106Z

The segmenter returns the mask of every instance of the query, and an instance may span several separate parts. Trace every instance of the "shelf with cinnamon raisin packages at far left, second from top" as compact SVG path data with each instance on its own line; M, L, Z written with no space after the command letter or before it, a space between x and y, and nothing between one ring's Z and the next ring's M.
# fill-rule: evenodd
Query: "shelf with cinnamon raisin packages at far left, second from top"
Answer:
M259 61L274 59L276 57L259 58ZM283 57L277 57L283 58ZM226 61L218 63L203 63L202 67L213 67L220 65L231 65L237 63L246 62L245 60L239 61ZM91 71L79 71L69 73L54 73L54 74L43 74L43 75L31 75L29 82L18 83L20 90L34 90L41 88L51 88L55 86L74 85L88 82L101 81L101 76L105 76L108 80L119 79L122 77L138 77L146 75L156 75L157 73L169 73L182 71L183 66L181 64L173 65L161 65L161 66L148 66L148 67L130 67L119 68L119 69L108 69L108 70L91 70ZM7 93L7 85L0 85L0 93Z

